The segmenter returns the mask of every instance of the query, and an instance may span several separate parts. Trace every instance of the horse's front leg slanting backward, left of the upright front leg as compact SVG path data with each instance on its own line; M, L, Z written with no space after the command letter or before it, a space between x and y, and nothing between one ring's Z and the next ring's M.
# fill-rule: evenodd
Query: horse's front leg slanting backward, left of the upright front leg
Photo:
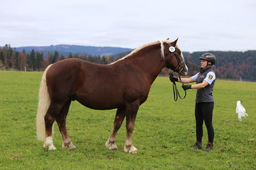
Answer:
M108 147L109 150L118 150L116 146L116 133L121 127L124 118L125 118L125 109L121 109L121 108L117 109L113 130L108 138L108 141L106 142L106 147Z

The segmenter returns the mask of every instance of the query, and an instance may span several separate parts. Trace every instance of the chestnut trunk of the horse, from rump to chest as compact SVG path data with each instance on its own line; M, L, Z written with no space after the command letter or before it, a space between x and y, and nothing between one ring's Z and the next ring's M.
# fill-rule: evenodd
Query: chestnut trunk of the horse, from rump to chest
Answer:
M57 100L71 98L93 109L124 107L145 101L150 88L134 68L122 64L100 65L81 59L56 62L47 72L49 93Z

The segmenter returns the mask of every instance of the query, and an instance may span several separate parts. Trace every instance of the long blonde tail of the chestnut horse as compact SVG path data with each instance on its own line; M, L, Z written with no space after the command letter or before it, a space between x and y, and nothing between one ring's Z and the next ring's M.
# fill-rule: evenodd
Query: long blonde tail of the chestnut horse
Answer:
M36 132L37 132L37 138L40 141L45 140L45 122L44 122L44 116L46 115L51 99L49 97L49 93L47 90L47 85L46 85L46 73L48 69L50 68L51 65L49 65L43 74L41 84L40 84L40 89L39 89L39 102L38 102L38 111L36 115ZM52 125L52 132L54 132L53 125Z

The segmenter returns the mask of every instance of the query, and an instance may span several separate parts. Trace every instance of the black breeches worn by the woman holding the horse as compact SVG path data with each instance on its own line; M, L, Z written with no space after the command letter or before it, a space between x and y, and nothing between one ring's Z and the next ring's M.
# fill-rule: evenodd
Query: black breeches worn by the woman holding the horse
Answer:
M205 123L208 132L208 142L213 142L214 129L212 127L212 111L214 102L196 102L195 103L195 123L196 140L202 142L203 123Z

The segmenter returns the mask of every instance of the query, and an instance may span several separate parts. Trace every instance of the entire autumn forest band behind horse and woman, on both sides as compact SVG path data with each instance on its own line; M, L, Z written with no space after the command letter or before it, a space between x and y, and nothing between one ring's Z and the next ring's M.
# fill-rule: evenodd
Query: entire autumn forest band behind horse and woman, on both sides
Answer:
M67 58L80 58L89 62L98 64L110 64L131 51L119 53L113 56L100 55L79 55L69 53L68 56L59 55L58 51L48 53L46 58L44 54L38 51L16 51L10 45L0 47L0 70L17 70L24 71L42 71L49 64ZM200 65L200 57L204 53L212 53L216 56L217 61L213 67L216 77L222 79L246 79L256 81L256 50L249 51L197 51L193 53L184 53L186 65L189 68L189 76L198 72ZM164 68L161 75L168 75L169 69Z

